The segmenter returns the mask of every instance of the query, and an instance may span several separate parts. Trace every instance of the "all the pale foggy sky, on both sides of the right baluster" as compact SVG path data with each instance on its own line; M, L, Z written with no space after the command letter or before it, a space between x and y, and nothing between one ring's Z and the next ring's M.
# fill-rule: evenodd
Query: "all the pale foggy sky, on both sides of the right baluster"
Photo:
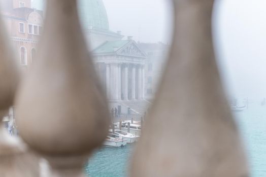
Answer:
M169 0L103 0L110 29L136 41L170 42ZM217 0L216 54L232 95L266 97L266 0Z

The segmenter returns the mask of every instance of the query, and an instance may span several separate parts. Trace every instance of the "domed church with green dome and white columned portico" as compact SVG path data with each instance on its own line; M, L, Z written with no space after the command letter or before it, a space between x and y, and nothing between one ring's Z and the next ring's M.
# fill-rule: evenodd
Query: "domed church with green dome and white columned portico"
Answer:
M121 31L109 29L109 20L102 0L78 1L79 16L89 44L97 73L105 94L111 102L143 100L145 98L146 54L138 43ZM42 0L33 2L43 7Z

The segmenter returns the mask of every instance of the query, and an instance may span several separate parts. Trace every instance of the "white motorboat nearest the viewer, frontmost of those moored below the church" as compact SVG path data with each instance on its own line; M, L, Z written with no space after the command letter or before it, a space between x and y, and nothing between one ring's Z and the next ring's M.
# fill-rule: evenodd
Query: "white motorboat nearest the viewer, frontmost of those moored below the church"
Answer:
M103 146L106 147L124 147L127 143L127 140L124 140L118 135L115 134L108 134L106 137Z

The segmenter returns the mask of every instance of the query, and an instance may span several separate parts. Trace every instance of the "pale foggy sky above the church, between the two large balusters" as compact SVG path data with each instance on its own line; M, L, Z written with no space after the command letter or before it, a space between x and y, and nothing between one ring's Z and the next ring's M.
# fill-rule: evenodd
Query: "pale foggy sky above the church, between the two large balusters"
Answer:
M169 42L172 24L169 0L103 0L110 29L144 42Z

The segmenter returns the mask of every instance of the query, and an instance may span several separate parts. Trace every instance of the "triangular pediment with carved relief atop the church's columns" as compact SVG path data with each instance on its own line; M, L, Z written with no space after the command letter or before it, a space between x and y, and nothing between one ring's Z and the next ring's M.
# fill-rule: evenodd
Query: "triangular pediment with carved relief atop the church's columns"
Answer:
M126 56L146 57L145 53L142 52L135 41L127 43L127 45L123 46L116 53Z

